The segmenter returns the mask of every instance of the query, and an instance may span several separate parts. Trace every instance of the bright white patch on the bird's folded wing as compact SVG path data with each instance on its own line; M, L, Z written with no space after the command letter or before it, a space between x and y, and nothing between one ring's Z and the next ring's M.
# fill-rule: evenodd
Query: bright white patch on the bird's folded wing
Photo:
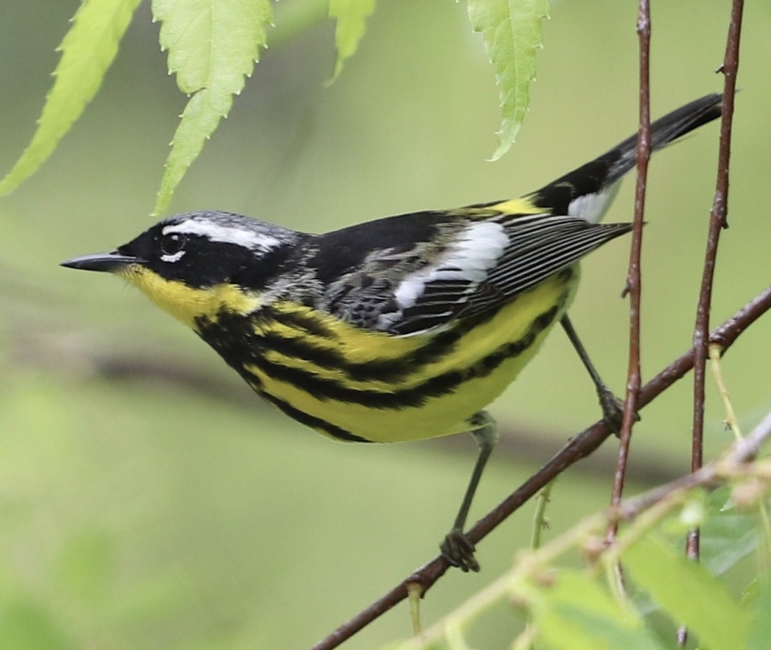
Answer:
M401 309L415 305L431 282L466 281L469 287L464 293L472 293L487 278L487 271L497 264L508 244L502 225L493 221L470 224L434 264L402 280L394 291L397 305Z

